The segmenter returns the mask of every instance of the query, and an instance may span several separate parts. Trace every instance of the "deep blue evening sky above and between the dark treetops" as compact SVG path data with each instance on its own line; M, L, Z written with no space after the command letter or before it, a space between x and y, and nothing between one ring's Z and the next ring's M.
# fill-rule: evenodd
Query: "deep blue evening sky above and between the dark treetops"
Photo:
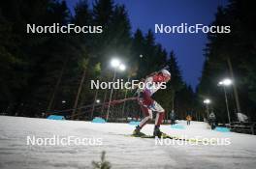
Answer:
M78 0L67 0L72 9ZM89 1L91 2L91 1ZM201 23L208 25L213 21L218 6L227 5L227 0L114 0L127 8L132 31L137 28L144 33L154 31L154 24L191 25ZM195 3L197 2L197 3ZM155 34L156 42L167 49L174 50L182 76L193 88L199 82L204 63L206 34Z

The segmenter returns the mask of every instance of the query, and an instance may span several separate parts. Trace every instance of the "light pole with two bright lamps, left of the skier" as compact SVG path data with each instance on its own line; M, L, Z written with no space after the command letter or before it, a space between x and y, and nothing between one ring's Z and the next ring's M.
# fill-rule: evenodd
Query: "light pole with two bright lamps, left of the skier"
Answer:
M112 82L114 82L115 76L116 76L116 70L125 70L126 67L124 64L122 64L118 59L112 59L111 61L111 66L113 68L113 77L112 77ZM112 89L113 90L113 89ZM112 91L111 91L111 96L110 96L110 100L109 100L109 105L108 105L108 110L107 110L107 117L106 117L106 121L109 120L109 115L110 115L110 108L111 108L111 101L112 101Z

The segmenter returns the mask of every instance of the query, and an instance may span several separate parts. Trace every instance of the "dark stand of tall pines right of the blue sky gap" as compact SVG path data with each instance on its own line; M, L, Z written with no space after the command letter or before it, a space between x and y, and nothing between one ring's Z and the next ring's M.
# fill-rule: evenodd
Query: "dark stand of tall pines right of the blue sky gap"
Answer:
M229 91L232 97L232 112L241 107L243 113L255 110L255 31L253 31L253 18L255 13L251 2L231 0L226 8L219 8L212 25L231 26L230 34L208 34L206 49L206 64L199 85L199 95L210 95L222 119L225 119L225 103L223 92L217 83L224 77L234 78L235 83ZM234 75L233 75L234 74ZM233 77L234 76L234 77ZM237 95L237 93L239 95ZM234 97L233 97L234 96ZM238 97L239 96L239 97ZM240 101L237 101L240 100ZM237 101L237 105L233 102ZM249 113L251 117L255 116ZM232 114L235 119L235 114Z

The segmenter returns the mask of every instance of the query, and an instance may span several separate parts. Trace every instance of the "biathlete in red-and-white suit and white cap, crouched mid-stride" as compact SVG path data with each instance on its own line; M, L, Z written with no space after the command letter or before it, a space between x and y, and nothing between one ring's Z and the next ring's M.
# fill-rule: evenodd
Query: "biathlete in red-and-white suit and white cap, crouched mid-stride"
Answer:
M167 83L171 80L171 73L169 70L163 69L158 72L153 72L149 76L145 77L142 81L144 83L144 88L139 88L137 90L138 103L144 113L144 119L137 126L133 132L133 135L144 135L141 129L144 125L153 118L153 112L156 112L155 127L153 135L161 137L162 132L160 131L160 125L162 124L165 116L165 110L163 107L157 103L151 96L161 88L163 83Z

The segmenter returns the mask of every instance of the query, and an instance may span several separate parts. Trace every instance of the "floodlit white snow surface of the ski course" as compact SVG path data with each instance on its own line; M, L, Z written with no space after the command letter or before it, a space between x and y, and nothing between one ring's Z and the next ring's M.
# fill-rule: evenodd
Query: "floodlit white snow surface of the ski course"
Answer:
M210 130L205 123L191 122L185 129L162 126L162 131L188 137L230 138L231 145L155 145L154 139L125 136L134 126L128 124L93 124L82 121L54 121L21 117L0 116L0 168L92 168L102 151L112 163L112 168L202 168L202 169L255 169L256 136L234 132ZM143 132L151 134L152 125ZM29 146L27 136L101 138L98 146Z

